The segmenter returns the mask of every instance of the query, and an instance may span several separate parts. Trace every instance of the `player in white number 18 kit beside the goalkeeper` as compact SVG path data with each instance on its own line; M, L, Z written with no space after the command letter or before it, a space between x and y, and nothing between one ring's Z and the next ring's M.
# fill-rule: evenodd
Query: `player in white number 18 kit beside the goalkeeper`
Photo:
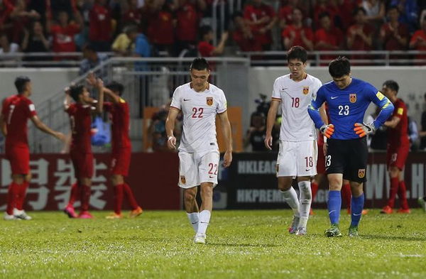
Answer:
M288 231L290 234L305 235L312 203L310 178L317 174L317 132L306 110L322 83L305 72L307 52L304 48L290 48L287 60L290 74L278 77L273 84L265 145L272 149L271 133L281 103L283 120L276 166L278 188L294 213ZM291 186L293 177L297 177L300 199Z

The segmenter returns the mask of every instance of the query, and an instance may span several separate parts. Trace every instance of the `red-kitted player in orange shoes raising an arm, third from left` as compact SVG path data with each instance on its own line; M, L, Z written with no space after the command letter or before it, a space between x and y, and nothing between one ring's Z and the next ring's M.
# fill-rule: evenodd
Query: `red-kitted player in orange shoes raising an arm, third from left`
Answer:
M129 174L129 165L131 158L131 142L129 138L130 116L129 104L121 98L124 92L123 84L111 82L104 87L101 80L95 80L94 75L89 75L89 82L96 85L99 89L98 112L105 109L109 112L112 120L112 155L111 155L111 183L114 185L114 213L107 216L107 219L121 219L121 204L123 203L123 194L126 193L127 199L131 205L130 217L134 218L140 215L143 210L138 206L136 199L129 185L124 182L124 177ZM104 94L111 102L104 102Z

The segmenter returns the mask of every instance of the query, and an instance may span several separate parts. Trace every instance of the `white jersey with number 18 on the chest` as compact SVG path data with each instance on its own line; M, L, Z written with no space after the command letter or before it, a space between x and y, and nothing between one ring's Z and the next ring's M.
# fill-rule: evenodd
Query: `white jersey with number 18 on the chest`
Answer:
M317 98L322 86L320 80L306 75L304 80L295 82L290 75L278 77L273 84L272 99L281 102L281 141L310 141L317 138L314 121L307 113L307 106Z

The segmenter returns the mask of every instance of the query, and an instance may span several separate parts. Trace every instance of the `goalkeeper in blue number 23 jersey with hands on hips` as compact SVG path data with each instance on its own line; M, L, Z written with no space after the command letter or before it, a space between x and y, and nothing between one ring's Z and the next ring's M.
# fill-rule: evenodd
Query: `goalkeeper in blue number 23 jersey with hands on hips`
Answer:
M364 208L363 183L366 181L367 141L366 135L376 131L393 112L393 104L373 85L351 77L351 64L339 57L329 63L332 82L322 85L317 99L312 100L308 112L315 126L327 140L325 166L329 180L328 210L332 226L325 235L342 236L339 230L342 207L342 180L351 184L351 226L349 236L358 236L358 224ZM318 108L327 102L331 124L324 124ZM371 124L363 124L368 105L373 102L381 113Z

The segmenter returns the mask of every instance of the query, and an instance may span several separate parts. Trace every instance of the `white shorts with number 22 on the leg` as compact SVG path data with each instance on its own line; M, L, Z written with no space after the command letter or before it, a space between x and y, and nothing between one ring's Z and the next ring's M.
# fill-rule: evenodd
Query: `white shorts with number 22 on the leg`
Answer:
M202 182L217 185L219 171L219 151L187 153L179 151L179 187L188 189Z

